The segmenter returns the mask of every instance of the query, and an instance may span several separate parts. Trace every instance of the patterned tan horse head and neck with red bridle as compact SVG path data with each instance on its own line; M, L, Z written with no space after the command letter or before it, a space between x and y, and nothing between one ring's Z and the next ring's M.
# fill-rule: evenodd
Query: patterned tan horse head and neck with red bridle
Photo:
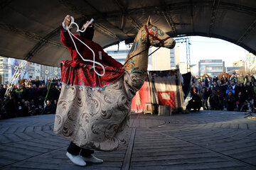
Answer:
M170 38L164 31L151 25L149 16L146 25L139 30L134 39L134 44L126 59L127 63L124 64L124 70L137 77L144 78L146 76L150 45L171 49L174 48L175 43L174 39ZM134 55L137 56L133 57Z

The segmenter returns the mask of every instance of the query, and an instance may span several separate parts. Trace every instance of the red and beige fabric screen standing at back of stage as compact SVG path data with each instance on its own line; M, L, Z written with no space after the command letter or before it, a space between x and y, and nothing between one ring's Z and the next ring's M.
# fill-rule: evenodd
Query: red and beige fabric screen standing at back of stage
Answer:
M149 72L142 89L133 98L132 112L142 113L145 103L171 106L172 112L180 112L183 108L181 79L178 69Z

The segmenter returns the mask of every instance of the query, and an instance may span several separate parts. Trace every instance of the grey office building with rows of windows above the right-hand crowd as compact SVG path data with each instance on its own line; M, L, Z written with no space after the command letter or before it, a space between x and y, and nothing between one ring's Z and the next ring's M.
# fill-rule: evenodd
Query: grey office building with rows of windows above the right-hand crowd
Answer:
M217 76L225 72L225 62L223 60L200 60L198 62L198 75L208 74L210 77Z

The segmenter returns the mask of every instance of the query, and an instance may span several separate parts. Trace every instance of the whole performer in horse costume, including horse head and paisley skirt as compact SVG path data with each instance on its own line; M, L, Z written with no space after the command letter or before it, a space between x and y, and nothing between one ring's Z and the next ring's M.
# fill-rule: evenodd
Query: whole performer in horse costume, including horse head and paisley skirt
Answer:
M85 28L88 23L89 20L82 21L80 28ZM63 26L69 25L70 16L66 16ZM79 166L85 166L86 162L103 162L93 155L95 149L113 151L127 146L132 98L144 84L149 47L175 46L169 35L151 25L149 17L147 24L139 30L122 66L92 41L93 33L94 26L91 24L80 36L75 35L90 47L90 51L78 40L74 40L77 45L74 47L67 31L64 28L60 30L61 42L68 47L72 60L61 63L62 90L54 132L70 141L66 155ZM95 56L94 60L103 64L104 68L85 62L78 51L85 59Z

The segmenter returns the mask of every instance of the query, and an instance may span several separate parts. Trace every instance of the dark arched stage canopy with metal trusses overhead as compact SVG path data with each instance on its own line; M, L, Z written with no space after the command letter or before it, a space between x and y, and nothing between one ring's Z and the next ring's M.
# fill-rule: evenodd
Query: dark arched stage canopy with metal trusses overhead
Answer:
M0 8L0 55L38 64L58 67L70 59L60 42L67 14L94 18L94 40L102 47L132 42L151 16L173 38L220 38L256 55L255 0L6 0Z

